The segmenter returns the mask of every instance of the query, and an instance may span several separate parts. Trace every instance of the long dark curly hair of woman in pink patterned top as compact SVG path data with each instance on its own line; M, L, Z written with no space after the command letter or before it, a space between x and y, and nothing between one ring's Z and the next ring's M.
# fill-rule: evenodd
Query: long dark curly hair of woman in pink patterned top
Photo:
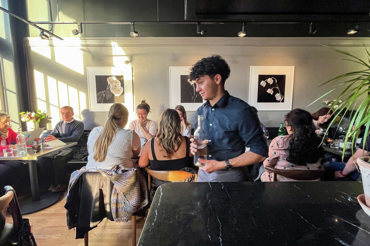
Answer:
M288 162L306 166L306 163L316 163L323 157L321 139L315 133L309 112L296 108L285 115L285 124L293 128L289 137Z

